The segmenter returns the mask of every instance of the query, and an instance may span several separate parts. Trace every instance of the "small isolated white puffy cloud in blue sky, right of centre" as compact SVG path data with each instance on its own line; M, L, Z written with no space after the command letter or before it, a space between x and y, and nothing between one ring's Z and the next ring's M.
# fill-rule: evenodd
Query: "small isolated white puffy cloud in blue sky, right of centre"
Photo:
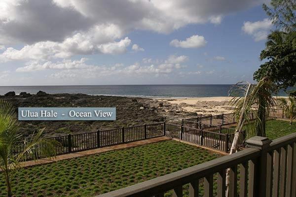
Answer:
M174 39L170 42L171 46L181 47L181 48L199 48L207 44L204 36L201 35L192 35L191 37L186 38L186 40L177 40Z

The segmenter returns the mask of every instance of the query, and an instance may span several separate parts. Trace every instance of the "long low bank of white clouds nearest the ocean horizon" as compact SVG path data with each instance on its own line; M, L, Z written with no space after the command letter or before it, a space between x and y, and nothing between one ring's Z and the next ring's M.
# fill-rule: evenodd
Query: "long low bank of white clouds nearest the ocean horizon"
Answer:
M134 74L169 74L175 70L186 67L182 63L188 60L186 56L169 56L164 63L140 65L135 63L130 66L116 64L111 66L97 66L86 63L87 59L51 61L30 61L25 66L16 69L17 72L33 72L40 70L59 70L50 74L51 78L96 78L98 76L134 75ZM151 62L156 62L151 60Z

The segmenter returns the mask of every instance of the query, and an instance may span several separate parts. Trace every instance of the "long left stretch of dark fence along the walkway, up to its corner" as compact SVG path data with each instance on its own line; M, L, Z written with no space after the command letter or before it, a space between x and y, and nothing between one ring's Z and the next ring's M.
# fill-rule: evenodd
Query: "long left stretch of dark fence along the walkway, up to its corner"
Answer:
M160 137L164 135L165 123L163 122L121 129L68 134L64 136L48 137L46 139L58 141L60 145L56 146L56 154L62 155L82 150ZM24 141L18 142L13 149L13 154L16 155L23 152L25 147L26 145ZM38 158L38 155L36 156ZM33 159L30 154L25 154L24 157L25 160Z

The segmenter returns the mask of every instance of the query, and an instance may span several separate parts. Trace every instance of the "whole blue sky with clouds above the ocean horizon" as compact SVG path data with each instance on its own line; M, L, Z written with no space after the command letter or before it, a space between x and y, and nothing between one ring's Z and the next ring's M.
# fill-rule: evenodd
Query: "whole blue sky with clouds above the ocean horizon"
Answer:
M0 86L253 82L266 0L1 0Z

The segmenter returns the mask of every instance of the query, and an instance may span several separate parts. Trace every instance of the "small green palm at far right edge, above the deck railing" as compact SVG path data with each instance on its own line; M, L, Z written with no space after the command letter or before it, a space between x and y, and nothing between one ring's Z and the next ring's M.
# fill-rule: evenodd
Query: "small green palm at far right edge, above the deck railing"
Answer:
M283 112L290 118L290 125L292 125L293 120L296 119L296 99L294 97L289 97L288 99L279 98L278 101Z

